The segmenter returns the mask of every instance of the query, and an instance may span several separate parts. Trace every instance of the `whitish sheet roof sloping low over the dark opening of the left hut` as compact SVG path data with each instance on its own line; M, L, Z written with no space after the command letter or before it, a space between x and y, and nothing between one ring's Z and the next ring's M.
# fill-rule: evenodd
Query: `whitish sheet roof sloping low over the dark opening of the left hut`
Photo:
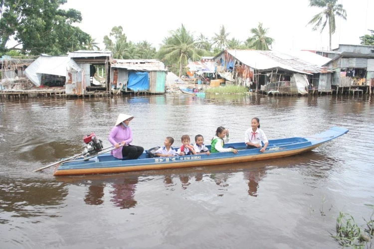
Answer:
M68 56L39 56L25 70L25 75L36 86L40 86L42 74L66 76L69 69L82 69Z

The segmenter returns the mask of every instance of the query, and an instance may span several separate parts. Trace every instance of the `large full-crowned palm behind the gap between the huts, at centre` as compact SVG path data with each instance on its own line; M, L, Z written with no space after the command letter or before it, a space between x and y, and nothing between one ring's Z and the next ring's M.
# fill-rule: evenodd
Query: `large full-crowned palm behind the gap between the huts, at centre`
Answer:
M164 39L158 56L169 64L179 64L179 77L182 76L183 66L187 65L188 59L196 60L205 54L205 50L195 47L193 35L186 29L185 25L174 31L171 36Z

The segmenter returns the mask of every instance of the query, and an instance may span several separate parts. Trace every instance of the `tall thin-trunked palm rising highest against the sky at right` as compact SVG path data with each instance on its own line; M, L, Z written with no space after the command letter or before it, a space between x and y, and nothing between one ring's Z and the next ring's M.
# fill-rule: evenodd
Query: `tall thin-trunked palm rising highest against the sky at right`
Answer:
M343 8L343 4L338 4L338 0L309 0L309 6L323 8L322 12L313 16L307 25L314 24L313 31L317 30L321 24L321 33L327 22L329 22L329 48L331 50L331 35L335 33L335 16L342 17L347 20L347 11ZM325 20L323 21L325 17Z

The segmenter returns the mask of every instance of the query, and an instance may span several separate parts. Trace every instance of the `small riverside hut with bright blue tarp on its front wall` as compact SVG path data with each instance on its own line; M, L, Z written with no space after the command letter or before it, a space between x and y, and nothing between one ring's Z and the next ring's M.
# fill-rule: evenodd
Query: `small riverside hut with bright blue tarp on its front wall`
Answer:
M113 89L123 93L164 94L166 72L164 63L154 59L113 59L110 79Z

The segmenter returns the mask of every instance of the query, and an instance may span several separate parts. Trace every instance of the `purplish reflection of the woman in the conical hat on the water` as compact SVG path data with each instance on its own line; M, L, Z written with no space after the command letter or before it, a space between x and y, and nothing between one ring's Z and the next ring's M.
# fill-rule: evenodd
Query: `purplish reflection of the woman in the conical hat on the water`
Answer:
M112 195L111 202L115 207L129 209L135 207L137 201L134 199L136 187L138 184L137 176L126 176L121 180L115 180L110 191Z

